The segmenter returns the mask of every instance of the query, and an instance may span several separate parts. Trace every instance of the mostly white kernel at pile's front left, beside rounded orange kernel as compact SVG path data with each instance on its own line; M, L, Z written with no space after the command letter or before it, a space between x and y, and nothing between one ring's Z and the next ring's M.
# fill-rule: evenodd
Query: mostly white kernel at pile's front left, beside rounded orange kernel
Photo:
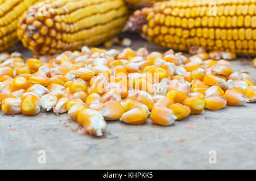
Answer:
M44 111L52 111L52 108L56 106L57 102L57 95L51 93L43 95L41 98L41 108Z

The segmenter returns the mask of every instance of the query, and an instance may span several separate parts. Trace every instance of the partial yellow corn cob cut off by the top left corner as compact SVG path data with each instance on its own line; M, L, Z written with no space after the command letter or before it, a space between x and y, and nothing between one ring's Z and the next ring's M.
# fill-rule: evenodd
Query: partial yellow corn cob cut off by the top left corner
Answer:
M10 48L18 41L16 34L18 19L28 7L37 2L40 0L0 1L0 51Z

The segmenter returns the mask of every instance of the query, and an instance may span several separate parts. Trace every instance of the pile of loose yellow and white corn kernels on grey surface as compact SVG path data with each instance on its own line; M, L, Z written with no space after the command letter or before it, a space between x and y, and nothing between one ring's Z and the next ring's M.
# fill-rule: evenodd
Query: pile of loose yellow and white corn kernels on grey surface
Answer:
M256 101L246 73L233 72L222 52L187 58L168 50L83 47L57 56L0 54L0 104L7 115L68 112L86 132L102 136L105 120L171 125L190 114ZM217 58L219 60L213 60Z

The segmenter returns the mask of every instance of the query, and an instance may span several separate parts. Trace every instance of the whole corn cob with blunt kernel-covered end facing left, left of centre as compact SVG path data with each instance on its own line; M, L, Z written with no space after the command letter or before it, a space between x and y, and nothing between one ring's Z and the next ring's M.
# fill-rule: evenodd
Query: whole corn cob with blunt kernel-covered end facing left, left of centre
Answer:
M101 44L121 32L126 20L122 0L49 0L30 7L18 37L34 52L60 53Z

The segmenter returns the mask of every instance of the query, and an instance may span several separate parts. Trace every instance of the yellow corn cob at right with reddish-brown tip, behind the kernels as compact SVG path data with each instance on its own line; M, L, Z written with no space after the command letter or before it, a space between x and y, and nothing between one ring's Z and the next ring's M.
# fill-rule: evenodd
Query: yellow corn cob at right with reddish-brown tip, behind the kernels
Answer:
M162 47L188 51L196 45L255 56L255 4L255 0L159 2L134 12L129 24L135 24L136 31ZM147 23L139 25L137 19ZM142 30L138 30L140 27Z

